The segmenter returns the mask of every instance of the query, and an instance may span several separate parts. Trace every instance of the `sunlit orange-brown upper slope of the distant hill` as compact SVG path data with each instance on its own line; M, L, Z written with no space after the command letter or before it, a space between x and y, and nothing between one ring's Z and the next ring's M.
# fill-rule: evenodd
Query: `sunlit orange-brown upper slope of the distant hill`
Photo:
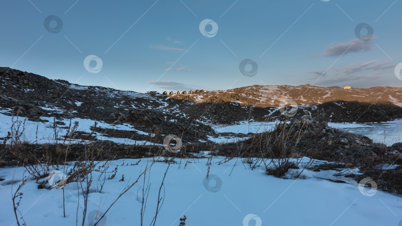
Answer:
M229 90L217 90L195 95L172 95L177 99L195 103L237 102L256 107L277 107L281 100L290 99L297 105L317 105L331 101L358 101L366 103L388 103L402 106L402 88L371 87L368 89L343 89L337 86L318 87L310 84L300 86L246 86Z

